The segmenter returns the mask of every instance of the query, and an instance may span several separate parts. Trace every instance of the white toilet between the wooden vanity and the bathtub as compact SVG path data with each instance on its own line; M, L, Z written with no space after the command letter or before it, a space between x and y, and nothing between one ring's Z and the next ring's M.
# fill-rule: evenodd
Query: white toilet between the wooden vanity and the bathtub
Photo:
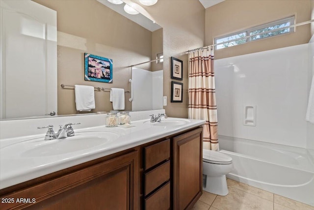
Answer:
M230 173L233 167L230 156L219 151L203 150L203 190L227 195L229 191L226 174Z

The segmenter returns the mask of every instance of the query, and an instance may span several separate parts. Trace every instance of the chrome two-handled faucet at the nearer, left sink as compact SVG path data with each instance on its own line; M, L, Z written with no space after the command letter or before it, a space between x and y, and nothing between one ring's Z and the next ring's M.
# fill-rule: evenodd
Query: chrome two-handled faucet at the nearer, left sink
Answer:
M59 125L59 130L58 132L55 134L53 131L53 125L48 125L45 127L37 127L38 129L41 128L48 128L48 131L46 133L45 136L45 140L52 140L52 139L63 139L63 138L67 138L69 136L74 136L74 130L72 125L77 125L80 124L80 122L78 123L67 123L65 124L63 127L62 125Z

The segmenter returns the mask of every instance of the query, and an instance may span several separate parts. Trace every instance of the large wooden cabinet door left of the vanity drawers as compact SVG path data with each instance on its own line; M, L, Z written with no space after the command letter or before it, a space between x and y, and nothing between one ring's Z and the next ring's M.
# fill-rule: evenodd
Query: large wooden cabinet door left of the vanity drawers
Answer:
M5 197L35 198L18 209L137 210L138 152L133 151ZM13 206L2 206L9 209Z

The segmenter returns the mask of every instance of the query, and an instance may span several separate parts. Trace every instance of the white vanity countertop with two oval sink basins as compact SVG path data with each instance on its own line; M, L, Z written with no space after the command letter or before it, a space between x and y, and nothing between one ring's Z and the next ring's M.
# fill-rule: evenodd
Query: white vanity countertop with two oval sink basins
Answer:
M95 119L98 121L93 124ZM29 130L33 127L35 131L37 124L62 124L60 120L79 121L83 125L94 126L80 126L80 129L74 129L74 136L52 140L45 140L44 133L37 132L36 135L32 135ZM1 125L1 129L19 127L19 130L24 129L23 132L27 135L0 139L0 189L204 124L204 120L167 118L159 122L133 121L132 127L108 128L102 124L102 115L60 120L44 119L39 122L27 120L22 121L21 126L8 121L4 123L5 127Z

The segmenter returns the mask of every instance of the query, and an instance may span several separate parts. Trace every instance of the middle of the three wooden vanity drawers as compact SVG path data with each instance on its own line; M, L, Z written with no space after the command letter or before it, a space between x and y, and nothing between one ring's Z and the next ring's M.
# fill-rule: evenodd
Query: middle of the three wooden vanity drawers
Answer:
M168 180L170 180L170 160L158 166L156 169L145 173L144 175L145 196Z

